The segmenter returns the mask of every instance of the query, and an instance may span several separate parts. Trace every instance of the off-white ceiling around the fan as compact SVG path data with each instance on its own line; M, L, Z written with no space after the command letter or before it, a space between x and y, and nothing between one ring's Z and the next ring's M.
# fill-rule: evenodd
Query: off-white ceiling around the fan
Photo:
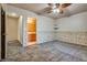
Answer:
M10 6L14 6L14 7L37 13L37 12L42 11L44 8L46 8L47 3L10 3ZM84 11L87 11L87 3L73 3L65 9L63 14L52 12L52 13L46 13L46 14L43 14L43 15L54 18L54 19L58 19L58 18L80 13L80 12L84 12Z

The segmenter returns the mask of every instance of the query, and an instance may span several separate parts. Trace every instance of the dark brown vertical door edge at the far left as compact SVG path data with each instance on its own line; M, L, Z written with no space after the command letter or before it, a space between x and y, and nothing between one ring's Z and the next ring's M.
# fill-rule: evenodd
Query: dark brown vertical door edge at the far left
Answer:
M1 7L1 59L6 58L6 11Z

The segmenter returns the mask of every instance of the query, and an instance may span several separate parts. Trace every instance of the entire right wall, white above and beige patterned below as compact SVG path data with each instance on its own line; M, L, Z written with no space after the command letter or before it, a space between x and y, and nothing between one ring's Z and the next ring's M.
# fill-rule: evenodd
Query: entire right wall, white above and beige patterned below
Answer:
M87 45L87 12L57 19L56 40Z

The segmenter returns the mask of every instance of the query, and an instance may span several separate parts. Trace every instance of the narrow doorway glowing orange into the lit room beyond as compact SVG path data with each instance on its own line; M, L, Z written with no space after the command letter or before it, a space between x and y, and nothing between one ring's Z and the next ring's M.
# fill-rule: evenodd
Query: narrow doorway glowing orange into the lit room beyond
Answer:
M29 45L36 44L36 18L28 18L26 34Z

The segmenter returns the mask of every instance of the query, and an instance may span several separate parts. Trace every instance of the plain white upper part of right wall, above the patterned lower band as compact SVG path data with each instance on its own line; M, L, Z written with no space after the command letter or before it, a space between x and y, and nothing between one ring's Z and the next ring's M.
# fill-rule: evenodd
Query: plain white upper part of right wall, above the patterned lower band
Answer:
M87 31L87 12L78 13L67 18L57 19L57 31L84 32Z

